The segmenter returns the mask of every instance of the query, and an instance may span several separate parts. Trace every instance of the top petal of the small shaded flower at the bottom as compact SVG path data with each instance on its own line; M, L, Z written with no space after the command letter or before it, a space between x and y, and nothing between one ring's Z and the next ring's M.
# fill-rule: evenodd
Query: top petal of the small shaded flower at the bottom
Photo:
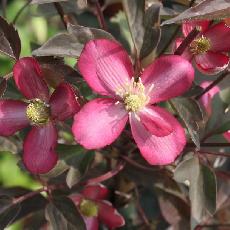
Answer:
M81 193L87 199L103 200L107 198L109 190L103 184L95 184L85 186Z

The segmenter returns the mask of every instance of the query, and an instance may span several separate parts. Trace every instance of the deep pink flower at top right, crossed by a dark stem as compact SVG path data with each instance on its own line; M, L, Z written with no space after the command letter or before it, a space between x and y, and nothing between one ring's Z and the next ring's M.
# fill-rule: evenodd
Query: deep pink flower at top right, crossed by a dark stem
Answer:
M194 61L197 69L204 74L217 74L224 70L229 63L226 52L230 51L230 28L224 22L209 26L209 21L190 21L182 25L186 37L195 27L201 32L182 56ZM174 50L184 38L177 38Z

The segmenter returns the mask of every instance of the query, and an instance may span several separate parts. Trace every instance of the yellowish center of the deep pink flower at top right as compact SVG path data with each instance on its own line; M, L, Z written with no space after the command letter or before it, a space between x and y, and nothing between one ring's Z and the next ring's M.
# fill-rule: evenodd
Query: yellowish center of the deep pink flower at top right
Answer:
M190 44L190 50L195 55L206 53L210 48L210 40L204 36L193 40Z

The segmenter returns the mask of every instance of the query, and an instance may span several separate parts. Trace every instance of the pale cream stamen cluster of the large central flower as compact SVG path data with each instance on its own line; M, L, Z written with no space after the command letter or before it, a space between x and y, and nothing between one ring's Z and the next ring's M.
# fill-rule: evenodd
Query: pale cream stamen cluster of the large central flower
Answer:
M123 98L125 109L128 112L139 111L149 101L140 78L138 82L132 78L131 82L124 86L124 89L117 91L117 94Z

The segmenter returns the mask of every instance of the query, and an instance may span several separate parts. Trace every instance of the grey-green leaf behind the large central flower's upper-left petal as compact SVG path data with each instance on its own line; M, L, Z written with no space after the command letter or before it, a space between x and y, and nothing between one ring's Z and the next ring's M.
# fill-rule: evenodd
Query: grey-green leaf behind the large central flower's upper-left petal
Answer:
M89 28L68 24L68 32L60 33L50 38L39 49L33 51L35 56L79 57L84 44L92 39L107 38L113 36L101 29Z

